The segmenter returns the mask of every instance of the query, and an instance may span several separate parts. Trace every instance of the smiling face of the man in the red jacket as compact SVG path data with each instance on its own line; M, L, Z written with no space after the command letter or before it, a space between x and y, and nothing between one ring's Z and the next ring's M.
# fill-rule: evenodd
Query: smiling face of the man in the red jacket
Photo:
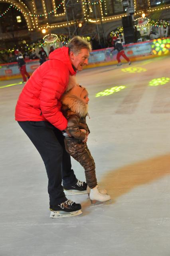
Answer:
M83 67L88 64L89 55L89 50L86 48L81 49L77 55L75 55L73 52L70 52L71 64L75 67L75 70L83 70Z

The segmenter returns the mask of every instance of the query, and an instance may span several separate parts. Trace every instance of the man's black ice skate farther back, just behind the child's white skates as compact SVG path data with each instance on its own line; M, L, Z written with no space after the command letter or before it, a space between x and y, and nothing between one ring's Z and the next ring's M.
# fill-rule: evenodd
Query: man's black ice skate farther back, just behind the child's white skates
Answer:
M66 196L87 194L87 183L80 181L79 179L74 185L67 185L63 187Z

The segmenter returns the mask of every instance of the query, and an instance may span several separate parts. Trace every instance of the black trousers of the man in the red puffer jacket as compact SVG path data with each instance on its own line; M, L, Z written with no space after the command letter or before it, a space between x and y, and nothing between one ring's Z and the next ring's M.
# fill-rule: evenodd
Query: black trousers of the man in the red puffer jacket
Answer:
M67 200L63 186L68 183L75 184L77 179L71 169L70 155L65 150L61 131L47 121L18 121L18 123L40 153L45 164L49 204L55 206L63 203ZM61 185L62 179L63 186Z

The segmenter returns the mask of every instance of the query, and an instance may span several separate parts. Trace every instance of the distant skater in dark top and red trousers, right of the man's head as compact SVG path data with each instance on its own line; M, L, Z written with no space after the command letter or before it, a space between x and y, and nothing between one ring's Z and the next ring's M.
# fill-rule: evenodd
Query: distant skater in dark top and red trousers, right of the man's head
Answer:
M113 45L113 50L117 50L118 51L117 57L116 57L117 61L118 61L117 66L121 66L122 65L122 62L120 60L121 56L123 58L125 58L125 60L127 60L127 62L128 62L128 65L130 65L131 64L130 59L127 57L127 55L125 54L125 51L123 50L123 45L121 43L121 40L119 38L117 38L116 36L113 36L113 38L112 38L112 45Z

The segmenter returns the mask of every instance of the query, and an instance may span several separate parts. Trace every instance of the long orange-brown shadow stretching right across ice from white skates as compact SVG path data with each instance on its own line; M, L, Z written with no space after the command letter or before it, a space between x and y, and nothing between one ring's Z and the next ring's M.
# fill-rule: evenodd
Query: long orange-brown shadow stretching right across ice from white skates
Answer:
M114 204L116 199L133 188L150 183L170 174L170 155L163 155L140 161L115 169L103 174L99 182L101 187L107 189ZM90 200L83 202L83 207L89 207Z

